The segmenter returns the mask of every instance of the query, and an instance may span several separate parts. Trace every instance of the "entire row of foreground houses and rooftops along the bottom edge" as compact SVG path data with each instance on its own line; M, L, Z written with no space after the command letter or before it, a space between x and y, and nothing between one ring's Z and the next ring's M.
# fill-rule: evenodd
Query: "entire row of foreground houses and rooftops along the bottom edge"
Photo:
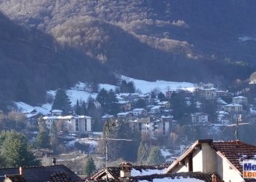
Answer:
M0 181L255 181L256 146L242 141L197 140L171 165L132 165L121 162L91 176L78 176L64 165L0 169ZM254 164L254 163L253 163ZM245 170L246 173L244 173Z

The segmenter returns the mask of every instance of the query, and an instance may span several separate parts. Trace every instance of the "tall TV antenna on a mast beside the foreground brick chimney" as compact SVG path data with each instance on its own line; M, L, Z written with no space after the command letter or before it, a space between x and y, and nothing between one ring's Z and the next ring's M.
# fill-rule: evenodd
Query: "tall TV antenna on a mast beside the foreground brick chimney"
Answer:
M105 123L105 153L106 153L106 165L105 165L105 172L106 172L106 181L109 181L108 179L108 141L134 141L129 139L120 139L120 138L108 138L108 133L112 131L116 131L118 127L117 121L113 121L112 119Z

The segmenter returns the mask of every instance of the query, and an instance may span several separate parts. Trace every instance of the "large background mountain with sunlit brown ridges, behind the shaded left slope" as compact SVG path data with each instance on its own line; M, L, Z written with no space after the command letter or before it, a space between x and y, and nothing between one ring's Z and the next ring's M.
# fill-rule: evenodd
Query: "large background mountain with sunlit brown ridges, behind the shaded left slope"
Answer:
M0 10L112 71L232 82L255 71L255 1L2 0Z

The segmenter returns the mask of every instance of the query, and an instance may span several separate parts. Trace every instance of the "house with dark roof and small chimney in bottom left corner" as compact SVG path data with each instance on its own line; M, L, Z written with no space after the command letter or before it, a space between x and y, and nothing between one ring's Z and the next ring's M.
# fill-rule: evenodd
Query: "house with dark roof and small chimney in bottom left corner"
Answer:
M0 181L83 181L64 165L0 168Z

